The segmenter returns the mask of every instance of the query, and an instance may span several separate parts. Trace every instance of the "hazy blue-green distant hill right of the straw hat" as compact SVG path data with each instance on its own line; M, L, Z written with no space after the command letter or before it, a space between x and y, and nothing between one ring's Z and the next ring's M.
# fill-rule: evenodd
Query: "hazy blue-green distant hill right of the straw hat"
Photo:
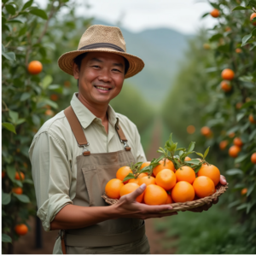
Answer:
M102 20L93 20L93 24L114 26ZM147 29L143 32L131 32L120 26L128 53L137 55L145 62L141 73L129 83L136 85L150 102L161 102L172 86L177 73L178 61L184 57L189 38L169 28Z

